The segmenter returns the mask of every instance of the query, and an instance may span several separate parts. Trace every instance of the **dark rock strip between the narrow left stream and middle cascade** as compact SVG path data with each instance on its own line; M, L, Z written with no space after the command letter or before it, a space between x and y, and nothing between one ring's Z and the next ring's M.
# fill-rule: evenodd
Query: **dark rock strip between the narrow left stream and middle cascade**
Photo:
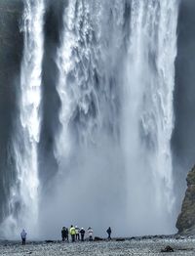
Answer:
M58 67L56 64L57 49L62 27L64 0L47 0L45 13L45 45L43 58L43 99L42 129L39 147L39 170L42 185L47 192L51 177L55 174L57 162L54 156L55 133L59 130L59 95L56 84Z

